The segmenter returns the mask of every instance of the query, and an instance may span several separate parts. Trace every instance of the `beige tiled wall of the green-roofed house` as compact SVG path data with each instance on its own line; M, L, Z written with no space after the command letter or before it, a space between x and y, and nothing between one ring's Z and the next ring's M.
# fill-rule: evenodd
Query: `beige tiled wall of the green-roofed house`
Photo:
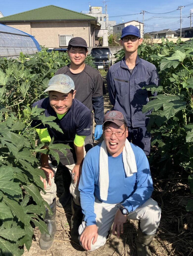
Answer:
M35 39L39 42L40 45L45 45L45 47L48 48L60 47L59 35L72 35L73 37L82 37L86 40L88 46L90 35L90 46L92 46L92 31L89 28L89 21L12 22L7 23L6 25L35 36Z

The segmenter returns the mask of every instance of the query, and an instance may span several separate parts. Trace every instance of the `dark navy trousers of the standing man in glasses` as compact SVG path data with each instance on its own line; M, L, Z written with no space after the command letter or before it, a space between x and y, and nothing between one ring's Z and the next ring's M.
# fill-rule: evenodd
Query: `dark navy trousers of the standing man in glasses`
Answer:
M140 147L146 156L150 153L151 134L147 131L146 126L128 127L128 141Z

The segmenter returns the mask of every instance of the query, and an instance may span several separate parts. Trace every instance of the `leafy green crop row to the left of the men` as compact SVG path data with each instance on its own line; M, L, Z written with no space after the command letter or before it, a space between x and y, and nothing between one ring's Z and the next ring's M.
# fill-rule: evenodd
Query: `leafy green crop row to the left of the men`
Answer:
M87 58L87 63L92 62ZM51 154L59 162L55 150L66 156L64 144L39 144L33 119L41 120L62 132L54 121L46 118L43 109L31 105L44 97L45 88L55 71L70 63L66 53L46 52L43 49L32 57L22 53L18 60L0 59L0 255L22 255L22 246L29 250L33 228L46 232L43 221L45 206L40 196L45 178L37 152ZM45 146L44 149L42 147Z

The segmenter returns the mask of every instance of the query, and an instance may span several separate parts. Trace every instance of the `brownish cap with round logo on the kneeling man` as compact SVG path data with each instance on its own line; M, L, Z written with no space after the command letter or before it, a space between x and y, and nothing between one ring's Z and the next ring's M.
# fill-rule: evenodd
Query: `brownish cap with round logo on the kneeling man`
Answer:
M125 115L123 113L113 110L113 111L109 111L108 113L105 114L104 120L103 120L103 128L104 128L104 124L106 122L115 123L120 127L124 123L127 124L127 118L125 117Z

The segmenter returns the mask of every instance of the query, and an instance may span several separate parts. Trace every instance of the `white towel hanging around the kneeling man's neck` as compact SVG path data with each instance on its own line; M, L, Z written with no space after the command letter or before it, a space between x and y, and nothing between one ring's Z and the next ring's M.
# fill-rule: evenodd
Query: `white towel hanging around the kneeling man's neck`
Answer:
M137 165L135 161L134 152L127 139L123 147L122 156L123 156L123 166L124 166L125 174L127 177L129 177L137 172ZM100 190L100 198L104 201L107 200L108 186L109 186L108 153L107 153L106 144L103 141L100 146L100 152L99 152L99 190Z

